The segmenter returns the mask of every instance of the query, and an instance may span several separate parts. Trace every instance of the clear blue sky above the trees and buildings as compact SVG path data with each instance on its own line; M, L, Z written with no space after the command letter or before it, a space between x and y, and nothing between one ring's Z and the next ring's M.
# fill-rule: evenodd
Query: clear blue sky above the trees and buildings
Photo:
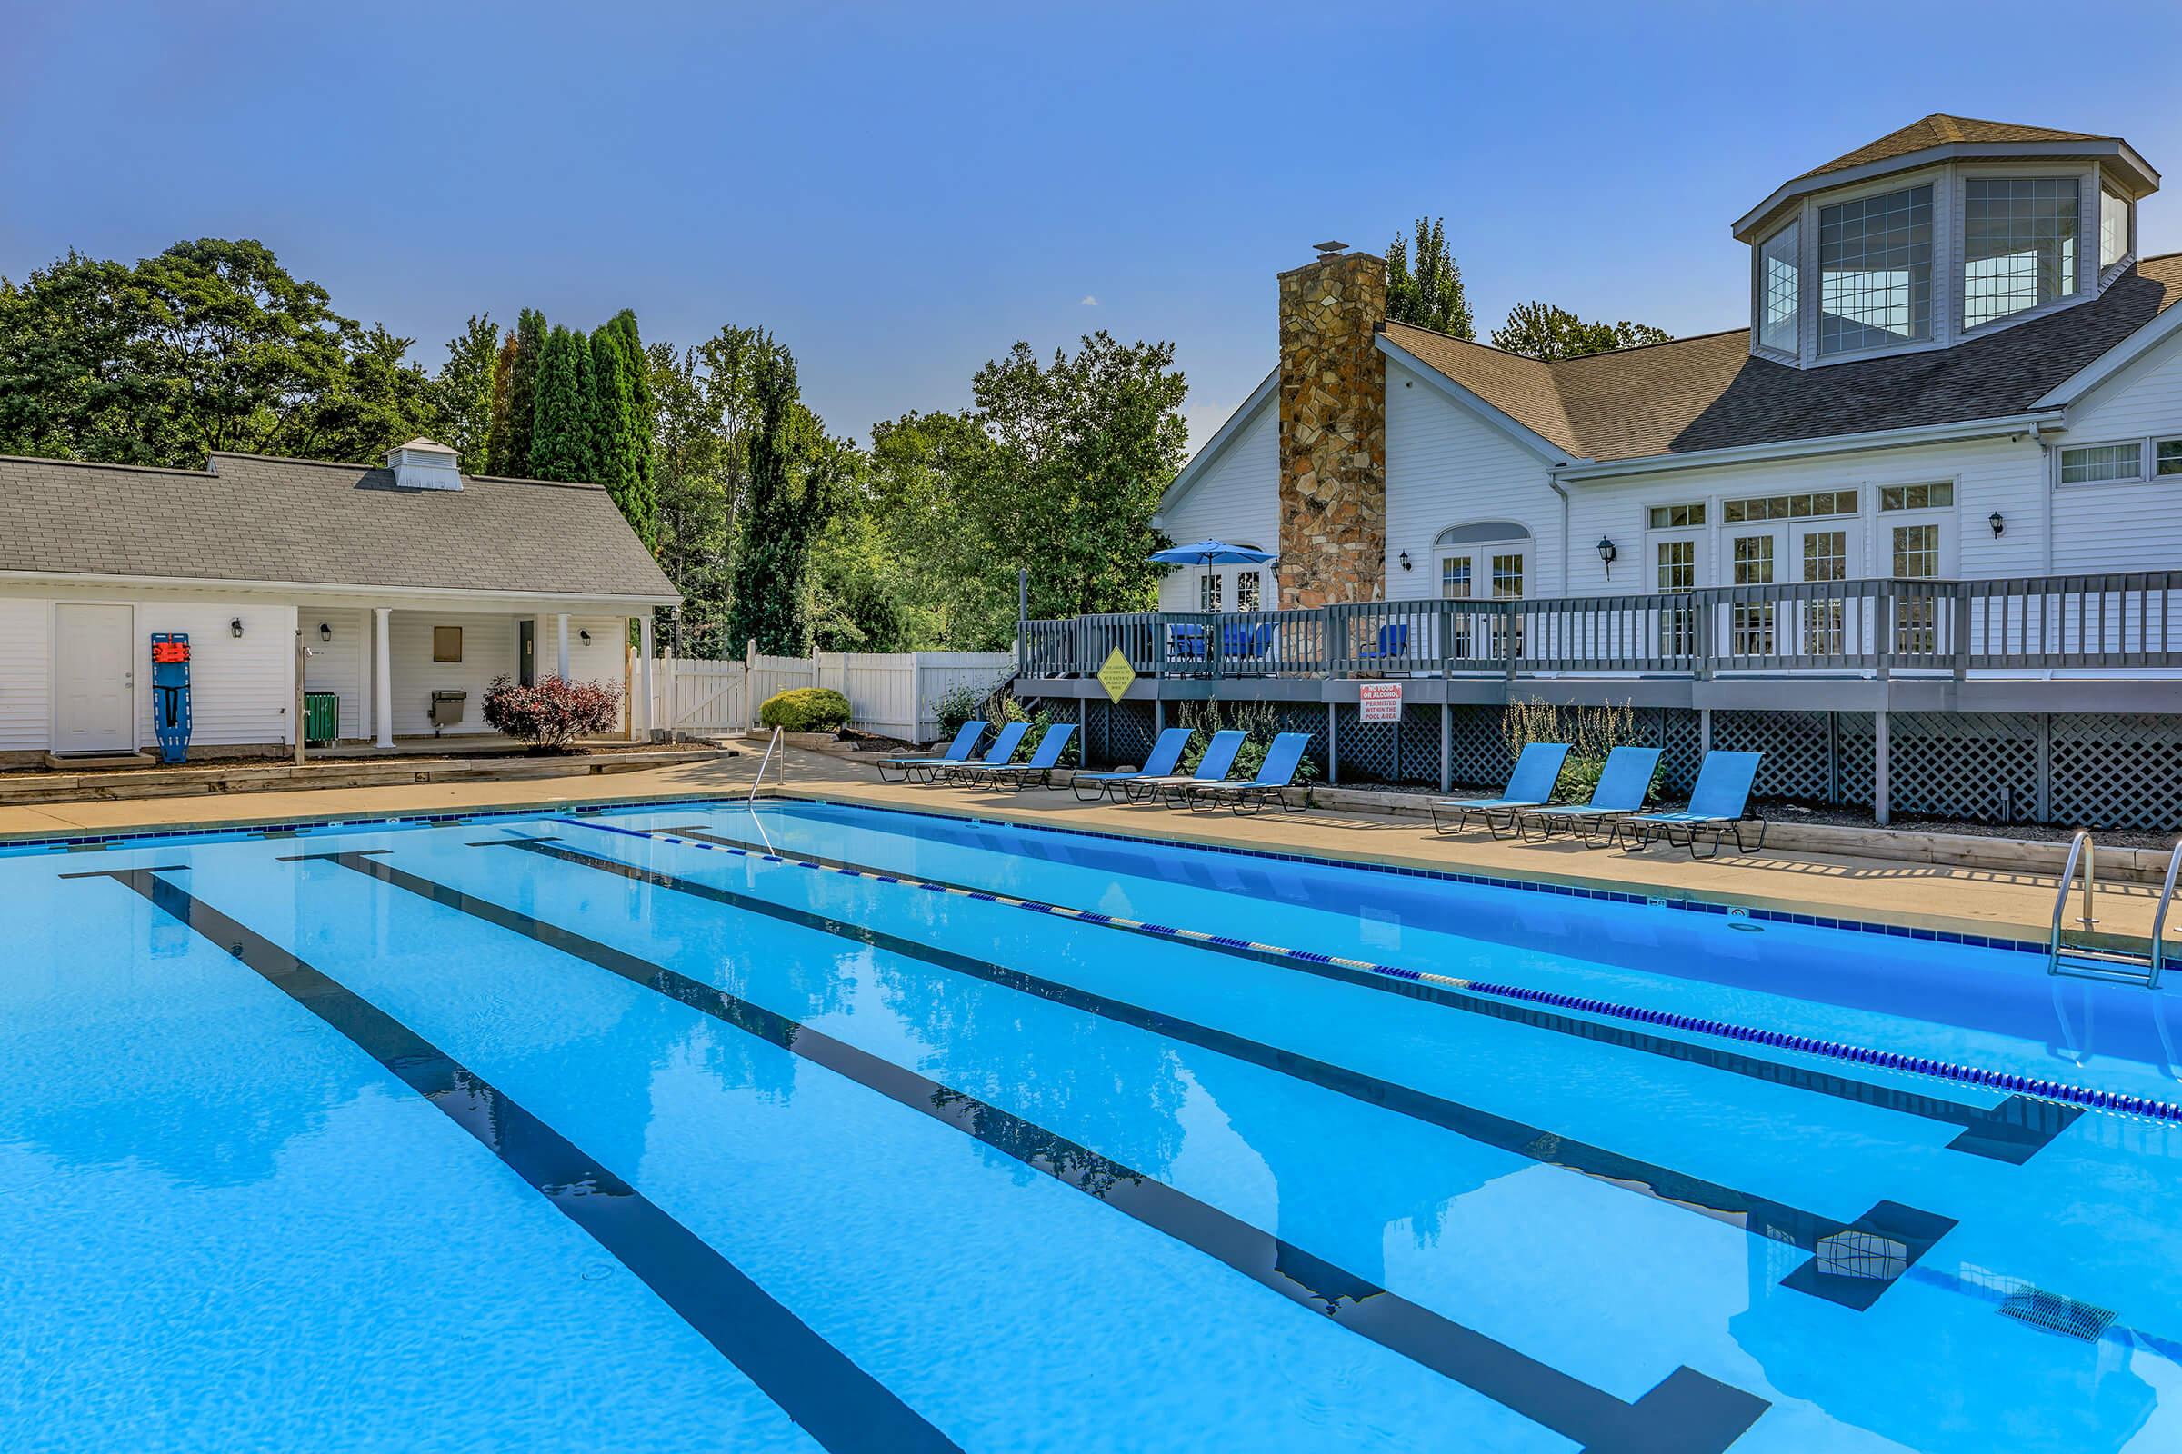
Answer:
M1272 275L1444 214L1479 334L1540 296L1733 327L1728 222L1929 111L2119 133L2182 187L2175 4L7 0L0 272L249 235L419 338L537 305L775 329L866 436L980 362L1170 338L1202 440ZM2071 39L2071 31L2084 35ZM2182 205L2141 214L2182 249Z

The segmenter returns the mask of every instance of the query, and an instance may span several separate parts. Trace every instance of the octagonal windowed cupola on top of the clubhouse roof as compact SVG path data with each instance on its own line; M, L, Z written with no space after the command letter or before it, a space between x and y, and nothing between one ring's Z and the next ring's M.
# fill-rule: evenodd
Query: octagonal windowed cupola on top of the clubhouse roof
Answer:
M1946 349L2095 299L2158 185L2121 137L1935 111L1735 222L1750 351L1811 368Z

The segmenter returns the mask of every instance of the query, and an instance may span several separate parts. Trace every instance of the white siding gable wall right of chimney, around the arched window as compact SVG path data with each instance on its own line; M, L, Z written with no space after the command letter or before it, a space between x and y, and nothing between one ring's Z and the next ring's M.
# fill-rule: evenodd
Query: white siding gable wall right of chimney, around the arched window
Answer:
M1479 521L1527 528L1536 582L1530 593L1560 591L1560 497L1545 460L1394 362L1386 366L1386 477L1390 599L1438 595L1431 543L1451 525Z

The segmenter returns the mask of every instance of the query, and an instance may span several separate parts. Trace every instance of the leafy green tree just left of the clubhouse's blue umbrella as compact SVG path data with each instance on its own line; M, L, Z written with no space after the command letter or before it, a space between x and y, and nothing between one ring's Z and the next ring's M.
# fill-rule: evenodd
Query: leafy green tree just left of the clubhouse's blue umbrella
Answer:
M969 451L958 501L991 543L980 569L995 584L1030 571L1034 617L1143 610L1167 538L1159 497L1183 462L1189 386L1174 344L1119 344L1091 334L1041 364L1015 344L971 379L973 419L991 440Z

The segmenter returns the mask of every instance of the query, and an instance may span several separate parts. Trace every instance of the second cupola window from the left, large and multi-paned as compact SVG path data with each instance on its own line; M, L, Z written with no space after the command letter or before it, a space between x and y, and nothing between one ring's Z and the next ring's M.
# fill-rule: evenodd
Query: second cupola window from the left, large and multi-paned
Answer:
M1931 187L1818 209L1818 351L1931 338Z

